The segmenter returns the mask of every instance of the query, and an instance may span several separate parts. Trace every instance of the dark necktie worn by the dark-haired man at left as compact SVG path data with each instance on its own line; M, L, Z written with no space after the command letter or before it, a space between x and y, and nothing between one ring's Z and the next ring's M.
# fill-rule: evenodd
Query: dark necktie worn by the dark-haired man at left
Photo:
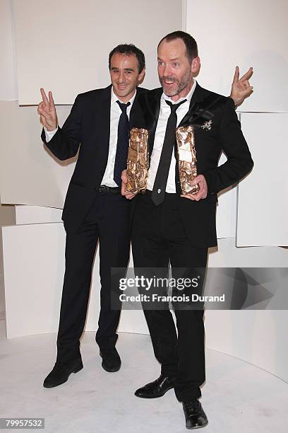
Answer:
M116 103L121 108L121 115L118 124L117 148L114 164L113 179L118 186L121 186L121 173L127 167L128 142L129 142L129 120L127 115L127 107L130 103L121 103L119 100Z

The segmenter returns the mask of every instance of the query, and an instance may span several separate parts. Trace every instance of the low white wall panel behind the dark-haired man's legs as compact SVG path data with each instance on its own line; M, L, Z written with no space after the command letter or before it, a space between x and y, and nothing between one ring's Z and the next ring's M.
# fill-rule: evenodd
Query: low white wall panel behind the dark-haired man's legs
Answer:
M56 332L64 278L63 224L4 227L3 246L8 338ZM97 330L99 310L97 249L85 330ZM119 331L148 333L143 312L123 311Z

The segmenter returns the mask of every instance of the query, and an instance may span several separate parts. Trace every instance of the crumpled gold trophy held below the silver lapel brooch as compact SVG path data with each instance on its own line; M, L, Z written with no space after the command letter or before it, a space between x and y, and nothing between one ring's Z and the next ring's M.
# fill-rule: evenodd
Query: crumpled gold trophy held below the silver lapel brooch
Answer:
M176 144L182 194L196 194L199 190L199 186L191 185L192 180L197 176L197 159L193 126L189 125L176 129Z

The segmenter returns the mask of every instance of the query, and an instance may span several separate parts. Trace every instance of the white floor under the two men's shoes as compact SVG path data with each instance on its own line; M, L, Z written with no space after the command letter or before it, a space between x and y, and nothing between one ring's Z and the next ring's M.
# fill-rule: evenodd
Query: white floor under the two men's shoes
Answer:
M117 347L122 367L117 373L107 373L101 367L94 333L85 333L84 369L64 385L46 389L42 381L54 365L55 339L55 334L47 334L6 340L2 318L0 417L44 417L44 431L53 433L187 431L173 390L152 400L133 395L136 388L159 375L148 335L120 334ZM201 403L209 425L201 431L288 431L287 383L214 350L206 351L206 371Z

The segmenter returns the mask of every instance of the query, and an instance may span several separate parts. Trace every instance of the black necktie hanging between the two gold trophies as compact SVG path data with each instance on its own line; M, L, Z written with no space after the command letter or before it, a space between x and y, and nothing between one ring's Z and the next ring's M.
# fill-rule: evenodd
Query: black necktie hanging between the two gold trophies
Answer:
M167 121L167 127L166 127L160 162L157 169L157 174L156 174L156 178L152 190L152 196L151 196L152 202L154 202L156 206L158 206L158 204L161 204L164 200L167 179L169 175L169 168L171 164L172 152L176 141L176 136L175 136L176 125L177 125L176 110L179 107L179 105L186 102L186 99L182 100L181 103L178 104L172 104L169 100L166 100L166 102L171 108L171 113Z

